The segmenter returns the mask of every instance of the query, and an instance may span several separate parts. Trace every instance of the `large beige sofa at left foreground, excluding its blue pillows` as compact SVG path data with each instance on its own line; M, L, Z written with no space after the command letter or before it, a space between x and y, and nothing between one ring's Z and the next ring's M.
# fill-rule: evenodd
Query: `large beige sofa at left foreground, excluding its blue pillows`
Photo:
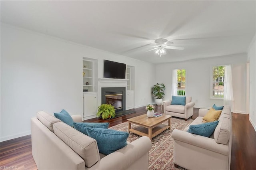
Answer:
M148 170L151 140L146 136L104 155L93 138L44 111L36 115L31 119L31 140L38 170ZM80 115L72 118L82 121Z

